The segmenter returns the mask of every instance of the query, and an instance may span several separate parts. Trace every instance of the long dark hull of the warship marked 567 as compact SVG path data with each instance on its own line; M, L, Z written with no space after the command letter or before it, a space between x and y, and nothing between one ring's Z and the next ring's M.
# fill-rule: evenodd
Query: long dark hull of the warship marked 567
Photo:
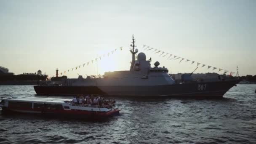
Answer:
M238 80L150 86L34 86L37 95L222 97Z

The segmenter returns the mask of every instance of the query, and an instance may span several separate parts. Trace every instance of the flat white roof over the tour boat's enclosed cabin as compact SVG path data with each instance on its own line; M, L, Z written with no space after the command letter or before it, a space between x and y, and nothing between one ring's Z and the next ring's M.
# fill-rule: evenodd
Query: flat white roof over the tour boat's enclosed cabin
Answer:
M64 101L71 101L72 99L54 99L54 98L37 98L37 97L17 97L7 98L8 101L26 101L26 102L39 102L39 103L64 103Z

